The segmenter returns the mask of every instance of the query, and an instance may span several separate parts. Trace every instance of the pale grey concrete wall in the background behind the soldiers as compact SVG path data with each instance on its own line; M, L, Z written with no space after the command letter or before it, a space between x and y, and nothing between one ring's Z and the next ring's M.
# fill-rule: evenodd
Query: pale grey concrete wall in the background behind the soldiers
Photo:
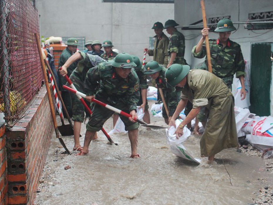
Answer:
M174 18L174 4L36 0L36 8L43 36L85 37L101 42L109 39L119 52L140 59L143 49L149 47L149 37L155 35L153 24Z

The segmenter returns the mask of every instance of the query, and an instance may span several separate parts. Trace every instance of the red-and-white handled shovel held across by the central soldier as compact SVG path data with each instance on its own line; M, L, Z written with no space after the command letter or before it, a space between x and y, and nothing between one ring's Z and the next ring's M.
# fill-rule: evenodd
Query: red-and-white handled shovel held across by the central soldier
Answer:
M74 90L74 89L72 89L72 88L70 88L70 87L68 87L66 85L63 85L63 88L70 91L70 92L73 92L73 93L75 93L75 94L77 94L77 95L79 95L79 96L81 96L83 98L86 98L86 94L83 94L82 92L76 91L76 90ZM119 110L119 109L117 109L117 108L115 108L113 106L107 105L107 104L105 104L105 103L103 103L103 102L101 102L101 101L99 101L99 100L97 100L95 98L92 99L92 102L94 102L96 104L99 104L100 106L105 107L105 108L107 108L109 110L112 110L112 111L114 111L114 112L116 112L116 113L118 113L118 114L120 114L120 115L122 115L124 117L127 117L127 118L132 117L130 114L128 114L128 113L126 113L126 112L124 112L122 110ZM145 127L149 127L149 128L153 128L153 129L165 129L165 127L162 127L162 126L148 125L147 123L145 123L142 120L139 120L137 118L134 118L134 120L137 121L138 123L140 123L141 125L145 126Z

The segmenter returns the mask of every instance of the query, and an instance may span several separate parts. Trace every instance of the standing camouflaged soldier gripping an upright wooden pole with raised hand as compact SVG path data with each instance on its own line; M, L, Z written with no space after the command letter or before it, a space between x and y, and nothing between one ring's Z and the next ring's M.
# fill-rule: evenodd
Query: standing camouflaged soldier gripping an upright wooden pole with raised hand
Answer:
M223 81L231 89L233 75L236 73L236 77L240 79L242 89L241 97L245 99L245 62L242 55L241 47L236 42L229 39L231 31L236 30L230 19L222 19L218 22L215 32L219 32L218 39L209 39L210 56L212 73L217 77L223 79ZM208 35L209 28L204 28L202 38L196 46L192 49L192 54L196 58L203 58L206 56L205 37ZM200 67L201 69L207 69L207 57L205 63ZM198 115L200 122L205 125L205 112L200 111Z

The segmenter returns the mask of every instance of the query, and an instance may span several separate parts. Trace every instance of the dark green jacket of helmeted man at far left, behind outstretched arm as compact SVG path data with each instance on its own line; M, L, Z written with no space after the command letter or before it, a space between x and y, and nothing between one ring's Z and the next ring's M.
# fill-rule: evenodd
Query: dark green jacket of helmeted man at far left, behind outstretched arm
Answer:
M65 48L59 58L59 65L58 67L60 68L61 66L63 66L65 64L65 62L68 60L68 58L70 56L72 56L74 53L70 52L67 48ZM68 77L70 77L71 73L73 72L73 70L77 67L77 62L72 63L68 68L67 68L67 75ZM60 77L60 87L62 90L62 86L66 84L66 80L63 76L59 75L58 72L58 76Z

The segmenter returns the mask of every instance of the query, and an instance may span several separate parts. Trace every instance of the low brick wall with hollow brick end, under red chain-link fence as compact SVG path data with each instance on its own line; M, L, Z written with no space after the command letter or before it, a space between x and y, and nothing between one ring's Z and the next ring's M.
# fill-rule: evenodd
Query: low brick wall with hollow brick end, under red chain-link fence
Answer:
M23 118L6 132L9 204L33 204L53 130L43 86Z

